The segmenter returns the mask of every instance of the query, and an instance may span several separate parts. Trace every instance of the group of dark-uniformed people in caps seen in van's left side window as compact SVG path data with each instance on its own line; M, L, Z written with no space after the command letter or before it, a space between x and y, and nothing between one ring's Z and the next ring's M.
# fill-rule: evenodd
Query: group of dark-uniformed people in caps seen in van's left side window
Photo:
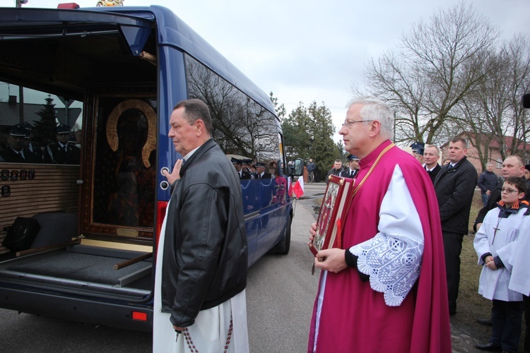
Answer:
M6 145L0 148L0 162L79 164L81 148L70 126L59 124L55 132L56 142L40 146L33 141L31 124L11 126Z

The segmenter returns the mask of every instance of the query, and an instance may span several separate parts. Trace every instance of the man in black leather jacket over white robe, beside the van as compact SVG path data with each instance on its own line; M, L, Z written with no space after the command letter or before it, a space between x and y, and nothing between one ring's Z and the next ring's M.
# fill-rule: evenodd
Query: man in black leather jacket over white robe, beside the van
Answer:
M207 350L201 349L201 342L207 340L204 330L217 327L225 331L225 327L225 332L230 328L232 333L231 315L231 344L248 345L247 234L240 179L211 139L211 128L204 102L179 102L171 114L168 135L185 162L177 161L171 174L164 172L174 190L165 221L162 312L171 313L177 344L178 333L184 331L186 340L191 337L199 352ZM219 318L201 317L208 309L219 312ZM223 311L228 311L228 321L220 314ZM227 335L219 338L223 347ZM245 349L248 347L242 351Z

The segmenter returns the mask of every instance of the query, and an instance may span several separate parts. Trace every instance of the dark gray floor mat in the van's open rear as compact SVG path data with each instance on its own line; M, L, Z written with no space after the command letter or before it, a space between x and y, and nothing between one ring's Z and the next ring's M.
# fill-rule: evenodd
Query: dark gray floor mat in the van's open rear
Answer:
M125 268L114 270L113 266L124 260L126 259L63 252L56 253L54 256L36 258L35 261L13 263L8 270L104 285L117 285L119 278L151 265L149 261L140 261Z

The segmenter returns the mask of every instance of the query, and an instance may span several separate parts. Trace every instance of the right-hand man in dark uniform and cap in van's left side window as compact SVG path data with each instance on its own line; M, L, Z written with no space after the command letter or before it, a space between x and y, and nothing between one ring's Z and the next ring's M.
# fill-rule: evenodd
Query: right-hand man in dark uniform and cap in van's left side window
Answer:
M60 124L55 134L57 142L50 143L45 149L44 161L48 164L79 164L81 149L68 143L70 126Z

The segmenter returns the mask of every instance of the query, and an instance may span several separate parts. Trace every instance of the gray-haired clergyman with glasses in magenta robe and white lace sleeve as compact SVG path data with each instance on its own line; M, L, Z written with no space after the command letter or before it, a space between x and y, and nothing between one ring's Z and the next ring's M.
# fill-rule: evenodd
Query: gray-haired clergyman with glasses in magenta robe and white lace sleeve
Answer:
M435 191L391 143L393 129L376 97L348 105L338 133L360 169L341 241L314 259L322 272L307 352L451 352Z

